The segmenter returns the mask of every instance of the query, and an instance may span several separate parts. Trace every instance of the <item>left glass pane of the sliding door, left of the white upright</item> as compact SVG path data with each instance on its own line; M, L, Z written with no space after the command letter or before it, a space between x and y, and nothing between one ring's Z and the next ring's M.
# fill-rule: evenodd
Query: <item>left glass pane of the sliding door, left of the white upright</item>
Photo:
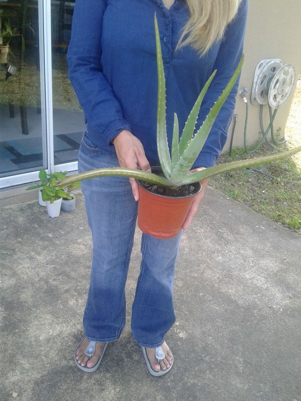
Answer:
M47 168L47 140L38 2L0 0L0 19L2 178Z

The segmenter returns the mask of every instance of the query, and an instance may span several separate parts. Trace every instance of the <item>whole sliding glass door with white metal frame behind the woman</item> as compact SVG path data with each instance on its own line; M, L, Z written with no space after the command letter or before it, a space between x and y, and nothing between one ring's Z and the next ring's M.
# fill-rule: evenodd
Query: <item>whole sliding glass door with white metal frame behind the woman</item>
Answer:
M0 188L41 168L77 170L84 116L66 59L74 4L0 0Z

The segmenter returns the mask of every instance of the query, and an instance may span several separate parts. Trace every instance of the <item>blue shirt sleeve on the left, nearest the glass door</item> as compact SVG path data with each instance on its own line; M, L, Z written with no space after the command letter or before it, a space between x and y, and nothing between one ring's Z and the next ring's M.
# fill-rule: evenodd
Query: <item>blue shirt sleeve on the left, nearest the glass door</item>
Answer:
M102 73L101 36L106 7L106 0L76 0L67 53L69 79L85 113L90 139L96 146L100 135L109 145L119 132L131 130Z

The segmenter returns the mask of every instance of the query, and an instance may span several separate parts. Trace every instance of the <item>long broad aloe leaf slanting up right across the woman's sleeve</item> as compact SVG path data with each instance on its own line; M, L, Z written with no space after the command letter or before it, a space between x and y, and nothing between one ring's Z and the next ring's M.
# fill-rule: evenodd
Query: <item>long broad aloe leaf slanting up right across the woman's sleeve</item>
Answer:
M213 126L214 120L216 119L216 116L218 115L218 112L220 111L222 105L224 104L224 101L227 99L232 87L234 86L238 75L240 74L240 71L242 69L242 63L244 61L244 56L240 59L240 62L238 63L238 66L236 68L236 71L232 75L232 78L228 82L228 85L216 101L214 103L214 106L212 109L209 111L209 114L207 115L205 121L203 122L201 128L198 130L198 132L195 134L195 136L191 139L189 142L187 148L185 149L184 153L182 156L180 156L179 163L175 168L173 169L173 172L171 173L170 180L173 182L182 182L183 177L185 174L188 173L190 170L191 166L195 162L197 156L199 155L199 152L201 152L201 149L203 148L203 145L205 144L205 141L207 139L207 136L209 135L209 132Z

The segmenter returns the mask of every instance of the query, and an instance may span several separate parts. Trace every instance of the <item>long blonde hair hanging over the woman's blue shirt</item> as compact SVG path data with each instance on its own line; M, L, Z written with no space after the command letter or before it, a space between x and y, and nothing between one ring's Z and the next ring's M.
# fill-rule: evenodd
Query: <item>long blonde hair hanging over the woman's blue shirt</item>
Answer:
M236 16L241 0L182 0L190 18L184 26L177 49L191 45L199 55L223 37L226 26Z

